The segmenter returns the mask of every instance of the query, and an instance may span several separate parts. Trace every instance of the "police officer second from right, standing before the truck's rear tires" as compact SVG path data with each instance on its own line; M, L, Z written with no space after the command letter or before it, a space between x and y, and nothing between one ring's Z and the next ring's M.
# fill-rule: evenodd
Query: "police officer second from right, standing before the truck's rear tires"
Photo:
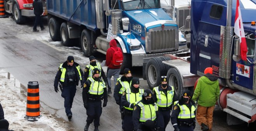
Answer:
M173 86L169 86L166 76L161 76L161 84L153 88L153 98L158 106L157 131L165 131L170 121L173 102L178 101Z

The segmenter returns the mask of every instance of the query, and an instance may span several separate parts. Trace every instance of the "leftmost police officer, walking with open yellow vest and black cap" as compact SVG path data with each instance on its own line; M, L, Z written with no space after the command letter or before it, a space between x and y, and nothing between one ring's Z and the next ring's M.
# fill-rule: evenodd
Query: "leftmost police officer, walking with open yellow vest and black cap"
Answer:
M74 62L73 56L67 57L67 61L59 66L59 71L55 76L54 90L55 92L59 91L58 83L60 82L61 96L64 98L64 107L69 120L72 118L71 107L76 94L76 86L78 86L79 80L81 81L81 86L84 83L82 76L83 71L79 64Z

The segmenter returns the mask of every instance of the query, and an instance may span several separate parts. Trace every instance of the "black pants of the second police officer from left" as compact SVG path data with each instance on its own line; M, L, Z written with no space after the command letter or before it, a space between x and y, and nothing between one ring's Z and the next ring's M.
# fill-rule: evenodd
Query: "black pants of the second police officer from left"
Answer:
M94 120L94 126L100 125L100 116L102 113L101 101L88 100L88 108L86 109L86 123L91 124Z

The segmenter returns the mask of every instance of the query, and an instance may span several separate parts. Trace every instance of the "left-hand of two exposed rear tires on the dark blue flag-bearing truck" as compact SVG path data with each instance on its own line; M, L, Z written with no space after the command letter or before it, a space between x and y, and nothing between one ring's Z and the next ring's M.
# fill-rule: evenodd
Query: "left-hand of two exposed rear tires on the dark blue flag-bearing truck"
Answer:
M164 72L164 64L159 57L149 59L146 66L146 78L150 89L159 86L161 76L164 74Z

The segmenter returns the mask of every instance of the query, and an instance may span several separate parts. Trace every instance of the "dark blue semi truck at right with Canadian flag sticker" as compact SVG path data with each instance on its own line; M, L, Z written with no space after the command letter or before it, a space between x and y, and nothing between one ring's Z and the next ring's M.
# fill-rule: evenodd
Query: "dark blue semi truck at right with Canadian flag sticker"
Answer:
M167 75L178 96L184 89L193 91L204 69L212 67L220 84L216 104L227 112L228 125L256 120L256 0L239 2L247 60L241 60L239 38L234 34L237 0L191 0L190 52L150 58L144 65L150 87Z

